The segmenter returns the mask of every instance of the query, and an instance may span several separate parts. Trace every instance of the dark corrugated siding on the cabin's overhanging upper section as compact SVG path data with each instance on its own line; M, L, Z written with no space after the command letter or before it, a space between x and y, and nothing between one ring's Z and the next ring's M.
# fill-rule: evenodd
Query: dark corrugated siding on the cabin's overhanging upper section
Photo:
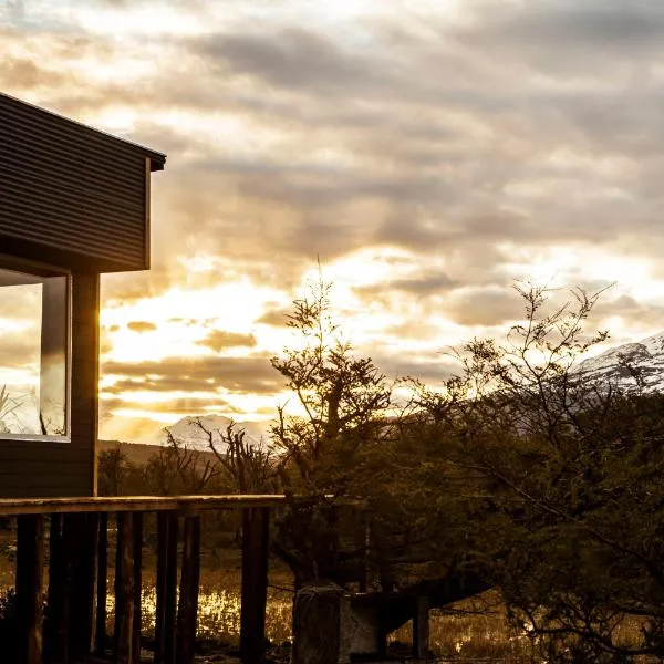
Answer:
M145 269L154 154L0 95L0 234Z

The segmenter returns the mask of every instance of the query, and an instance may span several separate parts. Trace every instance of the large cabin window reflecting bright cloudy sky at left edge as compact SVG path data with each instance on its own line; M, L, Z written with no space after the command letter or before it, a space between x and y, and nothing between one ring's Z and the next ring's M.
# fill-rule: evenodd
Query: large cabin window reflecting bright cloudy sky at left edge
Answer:
M66 274L0 257L0 438L69 436Z

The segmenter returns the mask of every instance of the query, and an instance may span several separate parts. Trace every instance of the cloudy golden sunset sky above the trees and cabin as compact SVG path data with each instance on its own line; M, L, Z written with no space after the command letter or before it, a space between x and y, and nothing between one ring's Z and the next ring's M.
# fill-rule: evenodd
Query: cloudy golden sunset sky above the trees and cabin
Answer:
M319 258L388 376L443 380L517 280L664 329L657 0L0 0L0 50L3 92L168 155L153 269L102 282L102 437L273 417Z

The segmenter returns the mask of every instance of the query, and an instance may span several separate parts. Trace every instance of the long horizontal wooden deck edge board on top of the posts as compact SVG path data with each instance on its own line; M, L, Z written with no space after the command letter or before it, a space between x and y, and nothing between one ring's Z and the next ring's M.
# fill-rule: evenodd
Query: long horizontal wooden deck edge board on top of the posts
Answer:
M180 511L235 509L245 507L278 507L286 502L282 495L227 496L118 496L77 498L2 498L0 516L75 513L96 511Z

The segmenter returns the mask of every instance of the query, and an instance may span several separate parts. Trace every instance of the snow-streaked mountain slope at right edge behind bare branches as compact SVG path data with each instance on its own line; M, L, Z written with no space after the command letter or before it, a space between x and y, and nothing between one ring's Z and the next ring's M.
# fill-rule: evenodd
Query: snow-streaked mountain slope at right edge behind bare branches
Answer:
M647 392L664 392L664 332L590 357L581 362L577 371L621 386L634 385L634 378L624 366L625 363L639 372Z

